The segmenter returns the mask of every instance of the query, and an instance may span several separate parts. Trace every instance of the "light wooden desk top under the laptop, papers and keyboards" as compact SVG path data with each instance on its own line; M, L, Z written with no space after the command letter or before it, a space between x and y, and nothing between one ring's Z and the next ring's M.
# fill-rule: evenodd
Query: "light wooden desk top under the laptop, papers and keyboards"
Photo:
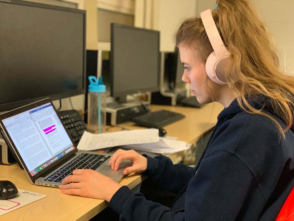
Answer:
M223 110L223 106L215 103L214 105L208 104L198 109L152 105L151 110L161 109L175 111L186 116L186 118L164 128L168 136L176 136L178 140L192 144L198 141L203 133L210 130L216 124L218 113ZM128 129L142 128L130 122L123 123L121 126ZM115 130L115 128L111 129ZM60 193L59 188L33 185L25 171L21 170L17 164L9 166L0 165L0 177L5 176L14 177L17 182L17 188L45 194L47 197L0 216L0 220L89 220L107 207L107 202L100 199L64 195ZM124 176L119 183L132 189L142 182L143 178L141 174L129 174L128 176ZM7 179L14 182L12 178L0 179Z

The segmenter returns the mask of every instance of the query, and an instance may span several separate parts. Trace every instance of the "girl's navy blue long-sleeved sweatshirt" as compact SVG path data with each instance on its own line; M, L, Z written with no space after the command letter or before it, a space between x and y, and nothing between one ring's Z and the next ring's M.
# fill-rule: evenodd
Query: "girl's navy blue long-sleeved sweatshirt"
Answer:
M272 113L261 97L249 102ZM293 126L280 136L269 118L249 114L236 100L218 115L208 145L195 168L173 165L165 156L147 157L144 172L178 194L173 206L148 201L123 186L109 207L120 220L275 220L294 186Z

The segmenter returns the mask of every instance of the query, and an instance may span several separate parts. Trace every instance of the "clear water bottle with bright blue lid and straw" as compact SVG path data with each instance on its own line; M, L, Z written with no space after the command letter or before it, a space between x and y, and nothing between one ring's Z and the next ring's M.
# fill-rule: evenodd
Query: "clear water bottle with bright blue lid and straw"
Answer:
M99 81L89 76L88 88L88 129L92 133L103 133L106 127L106 86L102 77Z

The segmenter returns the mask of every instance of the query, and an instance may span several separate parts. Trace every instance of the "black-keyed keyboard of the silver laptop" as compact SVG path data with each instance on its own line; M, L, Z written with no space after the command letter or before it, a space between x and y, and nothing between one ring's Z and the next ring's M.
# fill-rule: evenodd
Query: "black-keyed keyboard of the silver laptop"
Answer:
M44 181L61 182L65 177L72 175L75 169L92 169L95 170L111 156L82 153L75 159L65 164L54 174L44 179Z

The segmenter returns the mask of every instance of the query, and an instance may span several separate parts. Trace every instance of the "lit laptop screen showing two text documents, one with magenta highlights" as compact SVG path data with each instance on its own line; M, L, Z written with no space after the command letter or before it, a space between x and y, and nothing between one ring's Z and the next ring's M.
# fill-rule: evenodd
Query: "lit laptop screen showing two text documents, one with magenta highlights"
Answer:
M51 103L2 120L31 176L75 149Z

